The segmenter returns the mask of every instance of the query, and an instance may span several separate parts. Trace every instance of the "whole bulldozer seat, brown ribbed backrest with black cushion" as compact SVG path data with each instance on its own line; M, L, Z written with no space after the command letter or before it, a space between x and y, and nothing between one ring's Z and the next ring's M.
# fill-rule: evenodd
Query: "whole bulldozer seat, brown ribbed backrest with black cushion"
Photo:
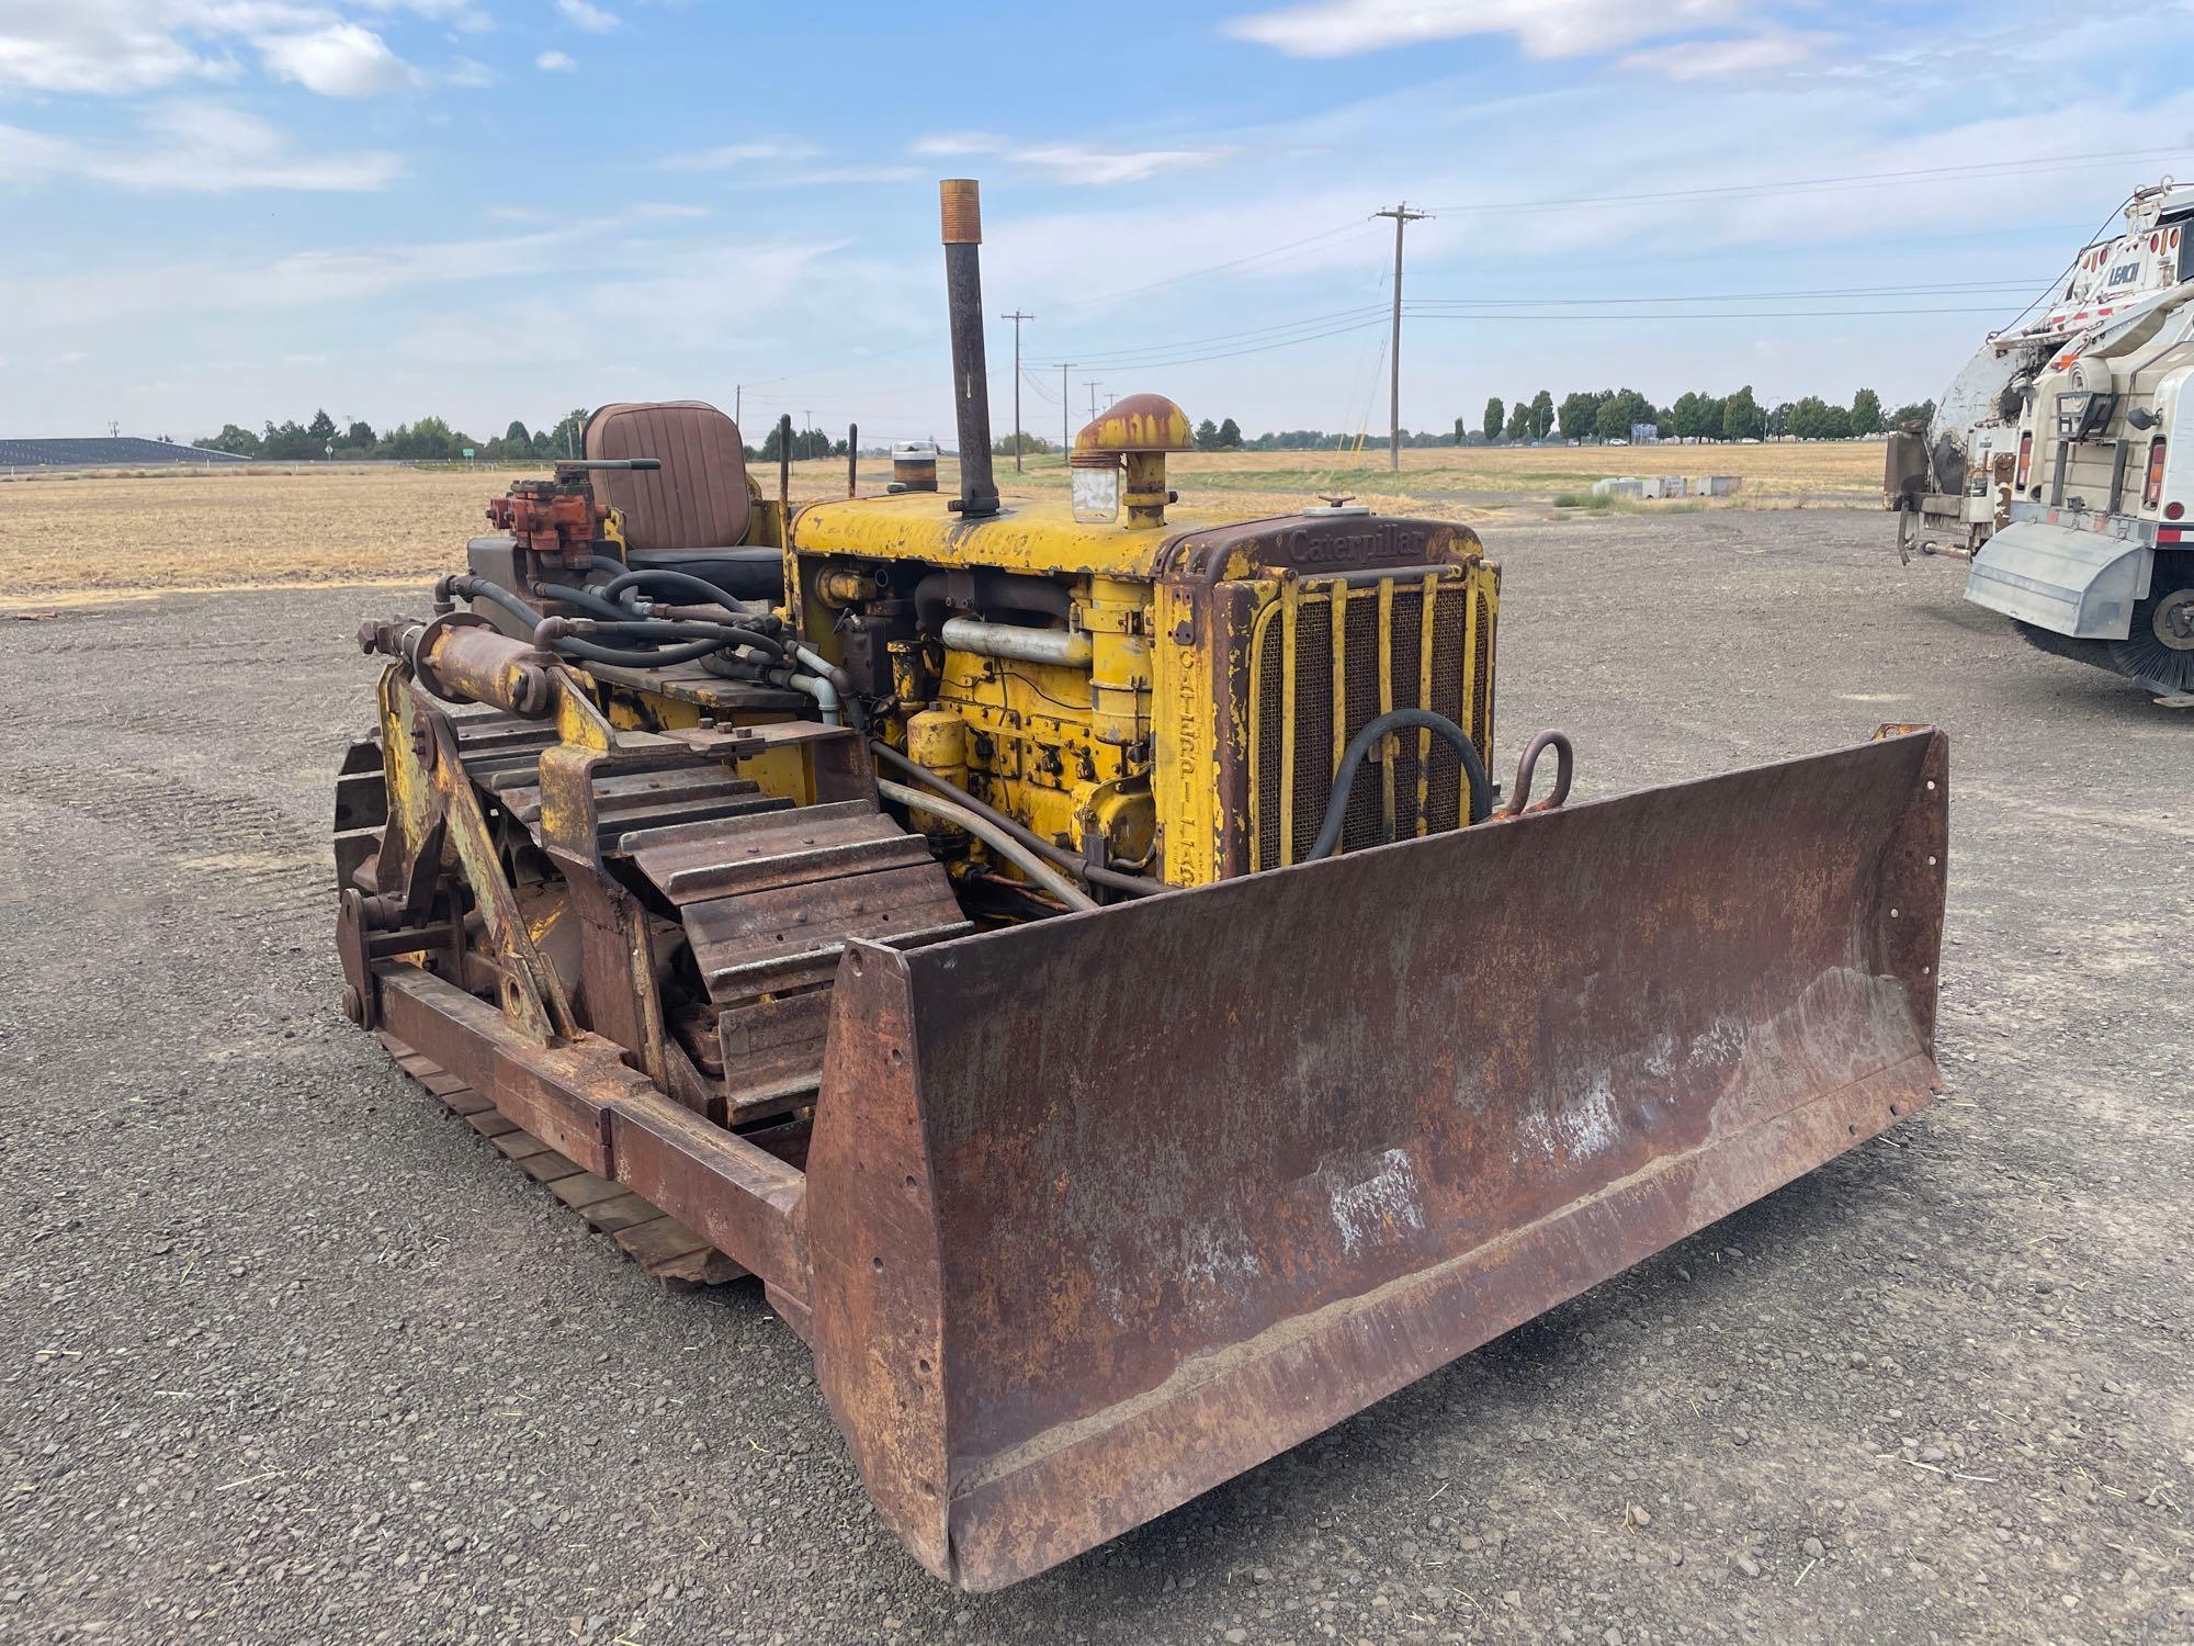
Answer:
M590 476L595 503L625 518L625 564L680 571L735 599L777 599L783 557L748 544L755 492L739 426L724 413L702 399L603 406L586 419L586 454L663 465Z

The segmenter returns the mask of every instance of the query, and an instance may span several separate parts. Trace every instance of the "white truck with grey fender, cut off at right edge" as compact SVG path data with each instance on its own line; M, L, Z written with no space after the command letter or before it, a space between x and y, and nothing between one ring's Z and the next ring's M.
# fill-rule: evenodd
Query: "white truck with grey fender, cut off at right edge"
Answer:
M1968 553L2034 645L2194 696L2194 187L2126 204L2040 318L1999 331L1922 441L1889 439L1898 551Z

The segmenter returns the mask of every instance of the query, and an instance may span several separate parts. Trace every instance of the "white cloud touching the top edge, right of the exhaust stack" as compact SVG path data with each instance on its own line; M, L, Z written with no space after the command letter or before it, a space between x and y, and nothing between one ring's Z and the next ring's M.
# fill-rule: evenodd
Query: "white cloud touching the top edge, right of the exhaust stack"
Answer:
M1290 57L1354 57L1466 35L1516 35L1527 57L1580 57L1635 40L1733 22L1744 0L1310 0L1255 11L1226 33Z

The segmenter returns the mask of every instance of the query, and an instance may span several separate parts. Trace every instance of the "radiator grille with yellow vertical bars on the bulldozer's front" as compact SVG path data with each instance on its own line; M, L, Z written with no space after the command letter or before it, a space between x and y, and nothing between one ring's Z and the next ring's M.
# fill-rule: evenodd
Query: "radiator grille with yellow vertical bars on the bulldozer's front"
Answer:
M1461 577L1433 582L1430 680L1424 674L1426 582L1316 584L1275 601L1257 621L1251 654L1251 869L1301 863L1319 838L1341 748L1382 709L1428 707L1470 729L1492 751L1492 606ZM1343 601L1338 678L1334 601ZM1382 667L1380 608L1387 606ZM1288 764L1288 652L1292 632L1294 737ZM1382 683L1384 676L1384 683ZM1338 685L1338 691L1336 691ZM1382 689L1384 685L1384 689ZM1428 689L1426 689L1428 687ZM1466 702L1468 694L1468 702ZM1338 724L1336 724L1338 702ZM1426 748L1428 744L1428 748ZM1391 781L1389 781L1391 775ZM1382 740L1356 775L1341 830L1345 852L1457 827L1461 759L1430 733Z

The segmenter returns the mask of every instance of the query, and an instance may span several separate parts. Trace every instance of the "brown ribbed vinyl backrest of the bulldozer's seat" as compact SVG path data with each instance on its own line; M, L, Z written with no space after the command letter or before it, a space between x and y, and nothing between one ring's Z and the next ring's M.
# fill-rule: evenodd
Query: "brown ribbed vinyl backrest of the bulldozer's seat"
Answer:
M586 419L592 459L654 456L660 470L592 474L595 503L625 516L638 551L731 549L746 542L753 498L739 426L700 399L603 406Z

